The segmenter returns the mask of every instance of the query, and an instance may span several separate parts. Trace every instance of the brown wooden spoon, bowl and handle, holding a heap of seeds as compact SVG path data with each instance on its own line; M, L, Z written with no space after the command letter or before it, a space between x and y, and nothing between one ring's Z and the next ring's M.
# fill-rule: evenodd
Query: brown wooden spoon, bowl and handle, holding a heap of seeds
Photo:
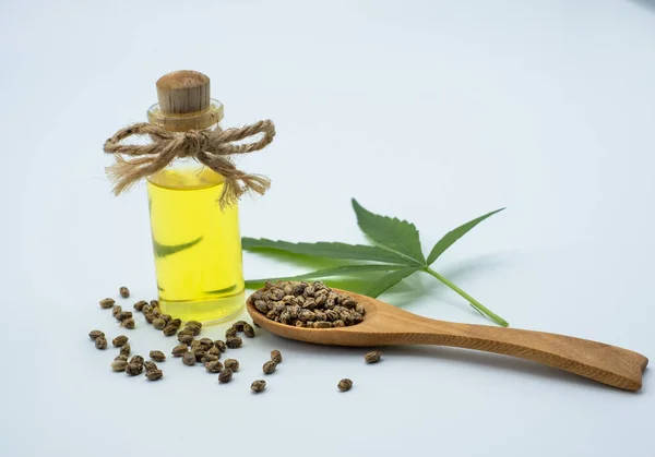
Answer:
M334 346L440 345L477 349L556 366L627 390L641 388L642 372L648 364L648 359L640 353L603 342L543 332L437 321L377 299L345 290L341 292L364 305L364 322L338 328L303 328L271 321L254 308L252 297L248 298L247 309L259 326L285 338Z

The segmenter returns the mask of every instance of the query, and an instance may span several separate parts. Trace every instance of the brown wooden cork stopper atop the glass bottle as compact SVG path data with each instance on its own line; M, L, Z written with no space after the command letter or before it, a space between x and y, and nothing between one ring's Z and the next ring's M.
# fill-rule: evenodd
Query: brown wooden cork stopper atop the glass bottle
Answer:
M210 79L202 73L174 71L162 76L156 85L164 115L188 115L210 108Z

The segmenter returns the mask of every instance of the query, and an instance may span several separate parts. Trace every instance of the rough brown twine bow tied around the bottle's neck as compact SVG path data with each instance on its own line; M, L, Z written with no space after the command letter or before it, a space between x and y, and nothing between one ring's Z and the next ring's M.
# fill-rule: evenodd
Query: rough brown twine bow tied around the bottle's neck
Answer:
M260 133L263 135L257 142L235 144ZM120 144L132 135L148 135L152 143ZM237 169L230 156L263 149L274 136L275 124L271 120L238 129L191 130L180 133L169 132L151 123L136 123L119 130L105 142L105 153L114 154L116 158L116 164L107 167L107 175L115 183L114 193L118 195L136 181L163 170L174 159L193 157L225 178L219 199L221 206L225 207L236 203L248 191L263 195L269 190L271 181L266 177ZM123 156L133 158L127 159Z

